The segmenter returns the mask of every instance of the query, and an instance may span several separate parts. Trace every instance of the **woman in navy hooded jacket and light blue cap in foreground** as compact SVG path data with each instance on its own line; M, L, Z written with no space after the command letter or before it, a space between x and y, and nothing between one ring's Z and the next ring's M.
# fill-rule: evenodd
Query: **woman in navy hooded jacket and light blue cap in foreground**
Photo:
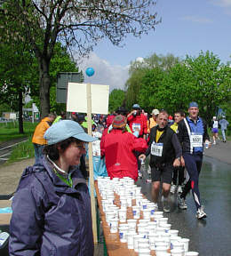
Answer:
M23 172L12 199L11 256L93 255L91 200L78 170L92 136L74 121L53 124L38 164Z

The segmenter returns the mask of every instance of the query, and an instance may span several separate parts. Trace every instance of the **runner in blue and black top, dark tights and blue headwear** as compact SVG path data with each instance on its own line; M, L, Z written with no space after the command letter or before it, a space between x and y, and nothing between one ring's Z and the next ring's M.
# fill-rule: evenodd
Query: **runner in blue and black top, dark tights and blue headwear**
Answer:
M198 116L199 108L196 102L189 104L188 113L189 116L179 122L178 135L179 142L182 144L183 157L190 180L187 181L182 194L178 197L178 204L180 209L187 209L185 199L187 193L192 188L197 209L196 218L200 220L206 217L206 213L201 205L198 181L203 162L203 142L210 143L210 137L207 132L207 125Z

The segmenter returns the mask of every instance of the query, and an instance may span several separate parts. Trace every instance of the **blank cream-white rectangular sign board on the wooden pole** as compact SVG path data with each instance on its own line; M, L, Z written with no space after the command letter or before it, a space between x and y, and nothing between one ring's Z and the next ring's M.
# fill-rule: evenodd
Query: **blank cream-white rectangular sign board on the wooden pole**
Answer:
M68 112L87 113L87 84L68 83ZM108 115L109 85L91 84L92 113Z

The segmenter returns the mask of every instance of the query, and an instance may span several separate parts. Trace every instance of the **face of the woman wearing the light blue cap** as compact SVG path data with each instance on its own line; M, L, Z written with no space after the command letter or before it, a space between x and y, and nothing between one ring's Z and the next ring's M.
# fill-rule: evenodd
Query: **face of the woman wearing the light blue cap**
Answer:
M73 142L62 153L60 157L69 166L80 164L80 157L86 153L84 142Z

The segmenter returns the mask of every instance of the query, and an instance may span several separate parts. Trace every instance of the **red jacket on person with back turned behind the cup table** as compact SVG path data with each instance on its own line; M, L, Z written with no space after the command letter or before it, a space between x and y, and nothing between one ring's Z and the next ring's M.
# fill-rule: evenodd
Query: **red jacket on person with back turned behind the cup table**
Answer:
M138 165L134 151L144 153L146 140L138 139L130 132L113 129L101 142L101 154L105 156L108 176L111 179L131 177L137 180Z

